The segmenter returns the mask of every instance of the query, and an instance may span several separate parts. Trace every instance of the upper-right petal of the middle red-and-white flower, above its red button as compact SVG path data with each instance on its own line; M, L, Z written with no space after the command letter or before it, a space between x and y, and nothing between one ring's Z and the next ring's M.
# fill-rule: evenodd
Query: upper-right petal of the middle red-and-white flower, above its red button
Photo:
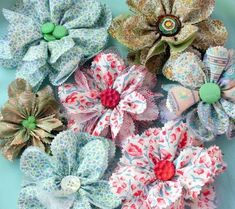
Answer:
M113 88L121 94L122 98L128 96L133 91L142 87L146 73L146 68L134 65L115 80Z

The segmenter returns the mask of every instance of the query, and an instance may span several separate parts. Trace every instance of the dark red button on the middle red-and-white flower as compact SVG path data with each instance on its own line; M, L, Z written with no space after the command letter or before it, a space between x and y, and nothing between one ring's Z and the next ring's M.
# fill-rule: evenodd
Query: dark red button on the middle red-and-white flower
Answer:
M120 94L115 89L105 89L100 93L101 103L104 107L113 109L120 102Z

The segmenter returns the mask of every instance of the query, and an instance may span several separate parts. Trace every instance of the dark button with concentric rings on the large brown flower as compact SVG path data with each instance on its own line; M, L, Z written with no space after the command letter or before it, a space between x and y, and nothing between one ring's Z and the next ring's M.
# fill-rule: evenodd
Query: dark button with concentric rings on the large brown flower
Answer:
M157 27L162 36L174 36L181 29L181 22L174 15L163 15L158 18Z

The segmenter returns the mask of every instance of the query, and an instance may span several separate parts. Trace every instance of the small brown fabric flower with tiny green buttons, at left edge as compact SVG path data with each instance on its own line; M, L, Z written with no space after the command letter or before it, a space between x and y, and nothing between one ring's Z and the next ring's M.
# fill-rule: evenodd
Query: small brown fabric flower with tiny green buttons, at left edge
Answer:
M0 148L13 160L27 146L49 151L53 133L62 129L59 104L53 91L46 87L33 93L22 79L13 81L8 89L9 100L0 113Z

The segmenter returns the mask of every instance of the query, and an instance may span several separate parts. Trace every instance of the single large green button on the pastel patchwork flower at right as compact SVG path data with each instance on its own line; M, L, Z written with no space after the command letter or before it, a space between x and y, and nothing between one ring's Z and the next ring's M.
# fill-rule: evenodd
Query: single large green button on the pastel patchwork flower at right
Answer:
M221 98L221 89L215 83L206 83L199 90L200 98L207 104L213 104Z

